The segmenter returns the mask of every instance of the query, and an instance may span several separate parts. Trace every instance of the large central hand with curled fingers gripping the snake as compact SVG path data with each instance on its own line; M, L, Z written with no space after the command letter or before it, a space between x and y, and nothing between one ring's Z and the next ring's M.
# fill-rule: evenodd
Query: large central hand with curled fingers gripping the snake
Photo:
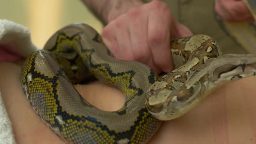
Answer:
M170 72L173 67L170 39L190 35L165 3L153 0L130 8L108 23L102 40L117 59L141 62L160 73Z

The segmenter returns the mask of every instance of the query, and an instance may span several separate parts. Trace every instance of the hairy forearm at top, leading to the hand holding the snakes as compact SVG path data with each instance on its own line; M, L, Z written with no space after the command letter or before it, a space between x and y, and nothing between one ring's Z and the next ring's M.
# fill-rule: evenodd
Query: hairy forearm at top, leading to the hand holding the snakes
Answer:
M131 7L143 4L142 0L82 0L104 24L126 13Z

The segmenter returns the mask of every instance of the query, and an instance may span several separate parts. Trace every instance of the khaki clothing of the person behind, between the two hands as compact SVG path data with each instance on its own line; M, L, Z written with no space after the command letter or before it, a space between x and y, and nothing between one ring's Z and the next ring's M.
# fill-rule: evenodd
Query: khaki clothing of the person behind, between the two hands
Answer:
M144 0L150 2L151 0ZM205 34L214 38L223 54L247 53L228 36L215 19L214 0L162 0L170 7L175 18L187 26L193 34Z

